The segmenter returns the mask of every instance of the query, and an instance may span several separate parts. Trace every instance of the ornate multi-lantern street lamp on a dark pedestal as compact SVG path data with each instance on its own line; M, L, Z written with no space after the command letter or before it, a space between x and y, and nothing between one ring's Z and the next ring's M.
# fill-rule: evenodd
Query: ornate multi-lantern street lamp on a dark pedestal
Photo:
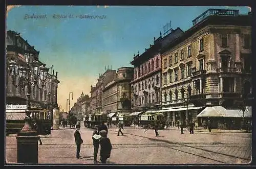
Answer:
M14 60L8 63L9 75L15 87L22 87L23 90L27 86L26 100L26 117L25 125L17 133L17 162L18 163L38 163L38 139L36 131L33 129L30 107L31 88L37 86L39 89L44 88L49 68L45 64L34 60L34 55L29 51L24 54L26 63L18 64ZM18 79L18 83L16 81ZM28 153L29 151L29 153Z

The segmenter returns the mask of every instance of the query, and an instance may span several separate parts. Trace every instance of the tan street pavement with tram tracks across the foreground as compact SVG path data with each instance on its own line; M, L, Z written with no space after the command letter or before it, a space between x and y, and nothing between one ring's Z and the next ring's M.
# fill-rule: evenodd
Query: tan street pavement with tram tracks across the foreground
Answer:
M189 134L184 129L170 128L154 130L124 127L123 136L117 136L118 129L109 128L108 137L113 150L108 158L109 164L245 164L251 160L251 132L239 130L195 130ZM228 132L227 132L228 131ZM93 164L93 129L81 127L83 144L76 159L75 129L52 130L51 135L40 136L38 144L39 164ZM16 161L16 138L6 137L6 161ZM99 160L99 155L98 155Z

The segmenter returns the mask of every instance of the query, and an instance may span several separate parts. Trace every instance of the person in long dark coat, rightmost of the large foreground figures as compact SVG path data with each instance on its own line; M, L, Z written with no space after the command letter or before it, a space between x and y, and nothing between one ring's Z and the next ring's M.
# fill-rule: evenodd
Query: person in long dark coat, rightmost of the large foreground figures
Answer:
M100 135L102 138L100 139L100 161L102 164L106 163L106 159L110 158L111 150L112 150L112 145L110 142L110 139L106 137L106 131L101 130Z

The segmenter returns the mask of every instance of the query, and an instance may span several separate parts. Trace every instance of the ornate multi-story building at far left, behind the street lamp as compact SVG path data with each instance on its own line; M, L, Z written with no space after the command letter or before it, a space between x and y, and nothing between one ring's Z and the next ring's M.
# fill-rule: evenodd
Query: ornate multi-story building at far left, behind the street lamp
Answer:
M27 40L24 40L20 34L14 31L7 31L6 36L6 60L15 59L20 64L25 64L25 53L33 54L33 60L39 61L39 51L34 49ZM39 61L40 62L40 61ZM16 84L18 78L16 78ZM36 85L31 89L31 106L47 108L53 115L53 107L57 107L57 87L58 87L57 73L48 73L45 86L39 89ZM6 66L6 104L7 105L26 105L27 87L23 90L21 86L15 87L12 83L12 78L8 74Z

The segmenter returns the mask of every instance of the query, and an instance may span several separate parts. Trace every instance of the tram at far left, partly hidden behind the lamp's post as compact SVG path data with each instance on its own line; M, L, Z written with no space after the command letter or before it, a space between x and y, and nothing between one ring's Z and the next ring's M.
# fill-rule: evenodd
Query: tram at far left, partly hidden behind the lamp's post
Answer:
M6 109L6 134L16 134L22 130L25 121L25 110ZM49 110L42 108L31 108L32 125L37 123L37 134L51 134L52 120Z

